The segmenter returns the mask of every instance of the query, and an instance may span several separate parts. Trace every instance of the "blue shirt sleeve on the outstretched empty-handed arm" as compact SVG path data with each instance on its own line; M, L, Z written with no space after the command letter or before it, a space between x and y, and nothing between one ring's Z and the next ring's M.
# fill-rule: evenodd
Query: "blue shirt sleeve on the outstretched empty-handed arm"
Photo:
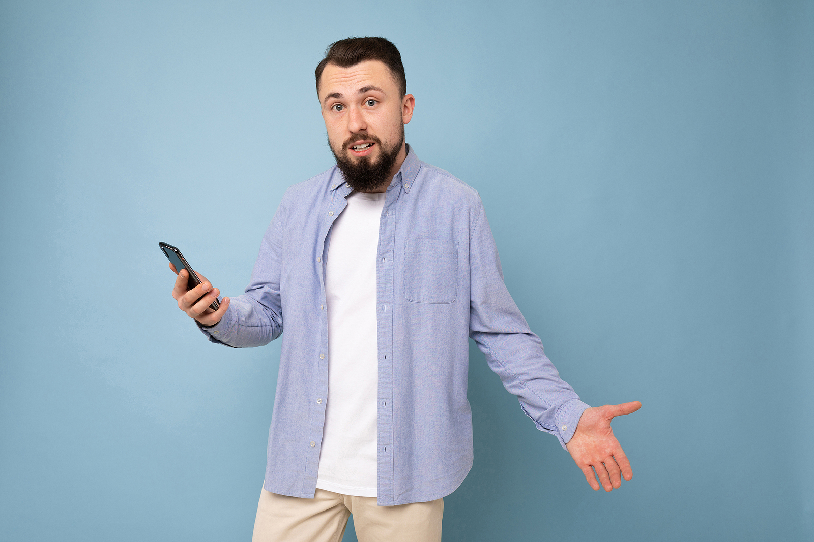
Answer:
M590 407L560 378L506 289L482 204L470 230L470 337L506 390L518 397L523 413L566 448Z

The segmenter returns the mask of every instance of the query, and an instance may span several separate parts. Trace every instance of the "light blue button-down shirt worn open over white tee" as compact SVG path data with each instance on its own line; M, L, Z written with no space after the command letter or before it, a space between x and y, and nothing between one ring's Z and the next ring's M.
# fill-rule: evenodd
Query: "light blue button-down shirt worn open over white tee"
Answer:
M264 487L313 498L328 390L325 270L351 189L337 167L295 184L265 232L252 282L209 340L237 348L282 335ZM565 448L583 410L503 282L474 189L408 154L387 188L376 255L378 505L433 501L472 466L471 337L540 431ZM283 327L285 333L283 333Z

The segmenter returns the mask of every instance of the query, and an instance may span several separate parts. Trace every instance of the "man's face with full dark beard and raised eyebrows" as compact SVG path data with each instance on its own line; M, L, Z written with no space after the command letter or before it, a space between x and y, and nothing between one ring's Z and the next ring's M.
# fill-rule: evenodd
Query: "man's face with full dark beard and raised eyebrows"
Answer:
M319 97L330 150L351 187L370 191L390 180L404 160L404 125L414 106L412 95L400 97L390 69L378 60L328 64Z

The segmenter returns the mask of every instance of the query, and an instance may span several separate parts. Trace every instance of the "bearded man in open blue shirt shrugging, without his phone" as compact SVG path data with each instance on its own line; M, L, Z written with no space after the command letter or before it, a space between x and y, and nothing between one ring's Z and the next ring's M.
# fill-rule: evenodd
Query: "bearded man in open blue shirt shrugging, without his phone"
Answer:
M245 293L212 310L219 290L201 276L187 291L183 270L173 290L215 343L266 345L285 323L253 540L339 541L349 514L362 542L441 540L444 496L472 466L469 337L593 489L631 479L610 420L641 403L591 408L559 378L478 193L405 142L396 46L337 41L315 75L336 166L287 190Z

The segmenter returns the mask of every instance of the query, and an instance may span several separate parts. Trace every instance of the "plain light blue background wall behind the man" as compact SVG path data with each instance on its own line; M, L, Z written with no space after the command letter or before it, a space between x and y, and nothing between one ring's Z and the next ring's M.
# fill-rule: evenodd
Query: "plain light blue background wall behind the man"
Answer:
M383 35L418 156L634 477L593 492L470 356L444 540L812 540L812 2L2 2L0 539L249 540L278 345L208 344L330 167L313 68ZM345 540L356 540L348 528Z

